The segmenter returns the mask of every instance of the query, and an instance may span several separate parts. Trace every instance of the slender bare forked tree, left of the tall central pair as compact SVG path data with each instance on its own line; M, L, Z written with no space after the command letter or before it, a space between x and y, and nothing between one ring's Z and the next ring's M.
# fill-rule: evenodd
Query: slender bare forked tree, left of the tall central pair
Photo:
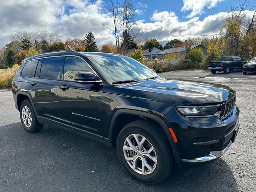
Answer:
M106 5L107 9L110 11L111 15L112 15L112 19L114 21L114 29L112 29L109 26L106 26L105 24L102 23L102 25L109 29L110 31L113 32L113 34L115 35L115 39L116 39L116 47L119 48L119 36L118 36L118 16L119 16L119 6L118 6L118 2L114 2L113 0L110 0L110 4Z

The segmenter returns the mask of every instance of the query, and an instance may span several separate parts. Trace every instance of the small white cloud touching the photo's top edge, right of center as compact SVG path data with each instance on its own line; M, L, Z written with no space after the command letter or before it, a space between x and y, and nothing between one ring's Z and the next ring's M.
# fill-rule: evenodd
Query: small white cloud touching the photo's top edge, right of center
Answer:
M200 15L204 12L204 8L214 8L219 2L224 0L183 0L183 12L192 10L187 18L192 18L196 15Z

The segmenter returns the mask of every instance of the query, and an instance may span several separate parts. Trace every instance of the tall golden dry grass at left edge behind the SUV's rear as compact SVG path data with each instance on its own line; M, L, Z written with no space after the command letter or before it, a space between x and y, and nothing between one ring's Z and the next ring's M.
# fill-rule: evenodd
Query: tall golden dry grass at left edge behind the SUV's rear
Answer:
M18 68L8 68L0 70L0 89L10 88L12 86L12 79L16 74Z

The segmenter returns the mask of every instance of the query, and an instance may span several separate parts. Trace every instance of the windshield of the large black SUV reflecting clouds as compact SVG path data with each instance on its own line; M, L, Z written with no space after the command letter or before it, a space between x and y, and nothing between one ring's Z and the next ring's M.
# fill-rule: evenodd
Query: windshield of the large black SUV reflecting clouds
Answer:
M118 81L140 81L150 77L159 77L150 68L127 56L88 56L88 59L108 78L111 84Z

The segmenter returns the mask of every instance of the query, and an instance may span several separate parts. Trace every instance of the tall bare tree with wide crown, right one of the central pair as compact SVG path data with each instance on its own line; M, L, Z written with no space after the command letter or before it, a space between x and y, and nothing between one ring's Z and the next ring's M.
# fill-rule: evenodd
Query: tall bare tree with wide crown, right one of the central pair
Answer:
M118 23L122 32L122 48L125 48L129 40L134 40L139 33L136 28L136 8L131 0L124 0L120 9Z

